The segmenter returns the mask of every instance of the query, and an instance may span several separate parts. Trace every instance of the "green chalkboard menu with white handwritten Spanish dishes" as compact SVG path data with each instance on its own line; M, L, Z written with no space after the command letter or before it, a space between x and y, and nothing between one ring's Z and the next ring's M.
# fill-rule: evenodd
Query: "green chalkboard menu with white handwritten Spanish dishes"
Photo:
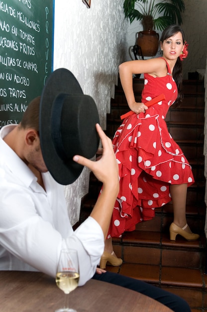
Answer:
M0 0L0 128L21 121L53 70L54 0Z

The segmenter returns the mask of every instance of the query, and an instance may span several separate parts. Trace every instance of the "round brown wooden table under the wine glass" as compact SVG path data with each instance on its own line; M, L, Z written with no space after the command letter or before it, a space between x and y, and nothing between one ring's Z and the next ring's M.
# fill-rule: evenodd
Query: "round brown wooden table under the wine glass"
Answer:
M77 312L171 312L157 301L109 283L90 280L71 294ZM64 306L55 279L39 272L0 271L1 312L54 312Z

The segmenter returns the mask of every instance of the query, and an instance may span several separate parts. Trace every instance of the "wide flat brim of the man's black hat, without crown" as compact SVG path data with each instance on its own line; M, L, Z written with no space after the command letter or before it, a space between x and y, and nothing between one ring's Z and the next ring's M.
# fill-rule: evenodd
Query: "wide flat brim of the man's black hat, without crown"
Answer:
M43 88L40 99L39 136L41 151L47 169L58 183L67 185L73 183L79 177L83 166L73 161L71 157L67 160L63 160L54 146L51 124L52 107L54 100L59 94L83 94L81 86L75 76L65 68L55 70L48 77ZM95 112L95 123L99 122L97 111ZM94 156L98 147L99 136L96 133L92 145L89 146L89 154Z

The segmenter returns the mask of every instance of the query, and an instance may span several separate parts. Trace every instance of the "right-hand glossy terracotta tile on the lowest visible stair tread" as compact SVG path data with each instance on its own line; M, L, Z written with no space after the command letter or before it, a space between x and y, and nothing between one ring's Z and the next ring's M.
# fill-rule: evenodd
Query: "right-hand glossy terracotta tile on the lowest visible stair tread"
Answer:
M203 288L200 270L162 267L161 285Z

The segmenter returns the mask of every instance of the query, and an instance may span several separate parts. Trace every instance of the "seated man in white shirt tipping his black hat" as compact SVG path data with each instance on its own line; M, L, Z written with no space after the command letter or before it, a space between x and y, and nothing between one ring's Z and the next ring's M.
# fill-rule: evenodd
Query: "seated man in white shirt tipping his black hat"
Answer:
M29 104L21 123L0 130L0 270L41 271L55 277L60 250L70 247L78 251L79 286L93 277L141 292L175 312L190 312L188 304L180 297L141 281L97 269L119 189L117 163L111 140L98 124L95 127L97 116L93 99L82 94L70 72L54 72L51 79L41 98ZM66 88L59 90L67 79ZM66 90L69 94L62 96ZM75 97L70 95L72 91L77 91ZM70 120L73 104L77 108L72 121L78 116L77 123ZM91 110L86 124L86 112L82 116L85 107L87 111ZM56 131L58 127L60 136ZM103 156L92 161L88 159L93 156L90 153L96 153L99 145L96 130L102 141ZM72 143L77 132L82 136ZM91 143L84 146L89 138ZM74 154L74 151L69 156L72 145L87 157ZM84 165L103 182L103 190L90 217L73 231L62 184L74 181Z

